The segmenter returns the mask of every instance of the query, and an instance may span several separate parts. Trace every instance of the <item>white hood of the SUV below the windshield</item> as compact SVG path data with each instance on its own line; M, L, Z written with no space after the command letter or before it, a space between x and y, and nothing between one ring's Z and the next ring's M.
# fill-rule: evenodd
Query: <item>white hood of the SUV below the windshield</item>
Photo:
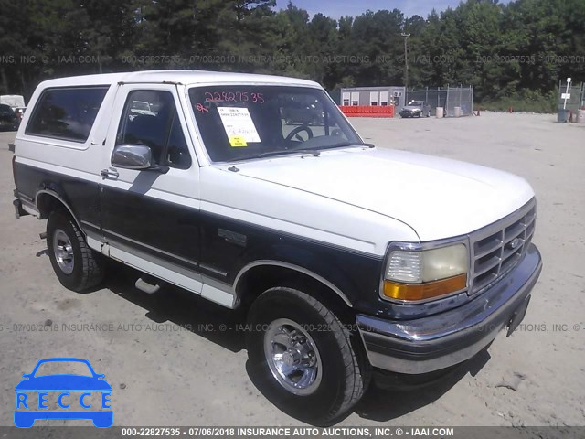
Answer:
M524 179L503 171L379 148L287 155L238 167L242 176L399 219L420 241L481 229L534 196Z

